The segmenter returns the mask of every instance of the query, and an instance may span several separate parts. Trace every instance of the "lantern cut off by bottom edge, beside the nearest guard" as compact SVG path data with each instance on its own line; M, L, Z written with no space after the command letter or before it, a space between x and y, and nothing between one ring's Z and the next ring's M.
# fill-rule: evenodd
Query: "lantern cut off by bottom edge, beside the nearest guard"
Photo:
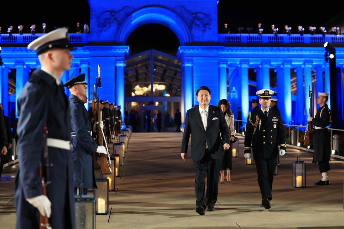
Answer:
M96 228L96 207L94 195L74 195L75 229Z

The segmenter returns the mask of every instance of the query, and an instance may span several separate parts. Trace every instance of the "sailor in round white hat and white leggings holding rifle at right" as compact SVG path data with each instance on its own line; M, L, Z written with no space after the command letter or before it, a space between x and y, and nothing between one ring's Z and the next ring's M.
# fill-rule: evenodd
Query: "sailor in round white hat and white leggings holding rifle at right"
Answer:
M315 185L329 185L328 179L331 160L331 137L327 126L331 125L334 116L327 106L329 100L329 93L318 92L317 104L320 108L316 111L315 118L309 116L308 121L311 121L314 125L313 133L313 161L312 163L318 163L319 171L322 175L322 179L315 182Z

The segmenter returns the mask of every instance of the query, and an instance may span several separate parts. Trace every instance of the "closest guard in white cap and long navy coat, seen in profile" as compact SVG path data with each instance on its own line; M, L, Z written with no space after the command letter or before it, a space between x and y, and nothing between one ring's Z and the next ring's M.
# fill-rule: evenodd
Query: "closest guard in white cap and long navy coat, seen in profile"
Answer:
M60 81L74 58L70 50L75 48L67 32L67 28L58 28L28 45L36 51L42 67L32 72L18 98L19 169L14 182L17 229L39 228L39 213L49 218L52 228L75 228L71 117ZM43 135L45 126L47 138Z

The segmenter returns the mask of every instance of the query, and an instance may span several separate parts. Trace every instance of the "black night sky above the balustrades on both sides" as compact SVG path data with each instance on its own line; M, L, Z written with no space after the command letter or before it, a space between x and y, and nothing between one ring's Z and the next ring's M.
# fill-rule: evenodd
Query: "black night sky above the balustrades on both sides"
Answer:
M281 7L280 4L284 6ZM75 30L76 22L80 22L81 25L89 24L87 0L61 0L56 2L52 9L46 1L35 1L35 4L23 1L18 5L18 8L14 8L12 1L2 1L1 8L0 26L2 26L2 33L7 33L7 28L10 25L13 25L14 31L17 32L18 25L23 24L24 32L29 33L32 24L41 28L43 22L47 24L50 30L54 26L66 26L70 28L71 32ZM279 29L288 25L292 27L291 32L293 33L297 30L298 25L305 29L308 26L317 28L324 26L326 22L340 12L342 12L342 8L339 5L327 7L326 5L315 5L312 1L278 2L277 5L277 1L257 1L252 4L247 1L220 0L218 3L218 30L222 30L224 23L228 23L232 33L237 32L237 27L252 27L255 30L257 23L261 23L265 31L270 30L271 24L275 24L276 28ZM147 27L144 30L147 30ZM168 33L168 35L171 34ZM173 46L175 45L173 44Z

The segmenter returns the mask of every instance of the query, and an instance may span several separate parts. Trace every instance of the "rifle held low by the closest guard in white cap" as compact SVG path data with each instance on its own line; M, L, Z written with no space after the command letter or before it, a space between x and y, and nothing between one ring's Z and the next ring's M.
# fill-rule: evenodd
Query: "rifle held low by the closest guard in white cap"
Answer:
M48 167L49 167L49 161L48 161L48 146L47 146L47 138L48 138L48 131L46 125L44 126L44 132L43 132L43 137L44 137L44 158L46 160L46 176L48 176ZM43 195L46 196L46 183L45 183L45 177L42 175L42 163L40 163L40 178L42 182L42 192ZM49 183L49 182L48 182ZM49 218L47 216L43 216L40 213L40 228L39 229L51 229L51 226L49 224Z

